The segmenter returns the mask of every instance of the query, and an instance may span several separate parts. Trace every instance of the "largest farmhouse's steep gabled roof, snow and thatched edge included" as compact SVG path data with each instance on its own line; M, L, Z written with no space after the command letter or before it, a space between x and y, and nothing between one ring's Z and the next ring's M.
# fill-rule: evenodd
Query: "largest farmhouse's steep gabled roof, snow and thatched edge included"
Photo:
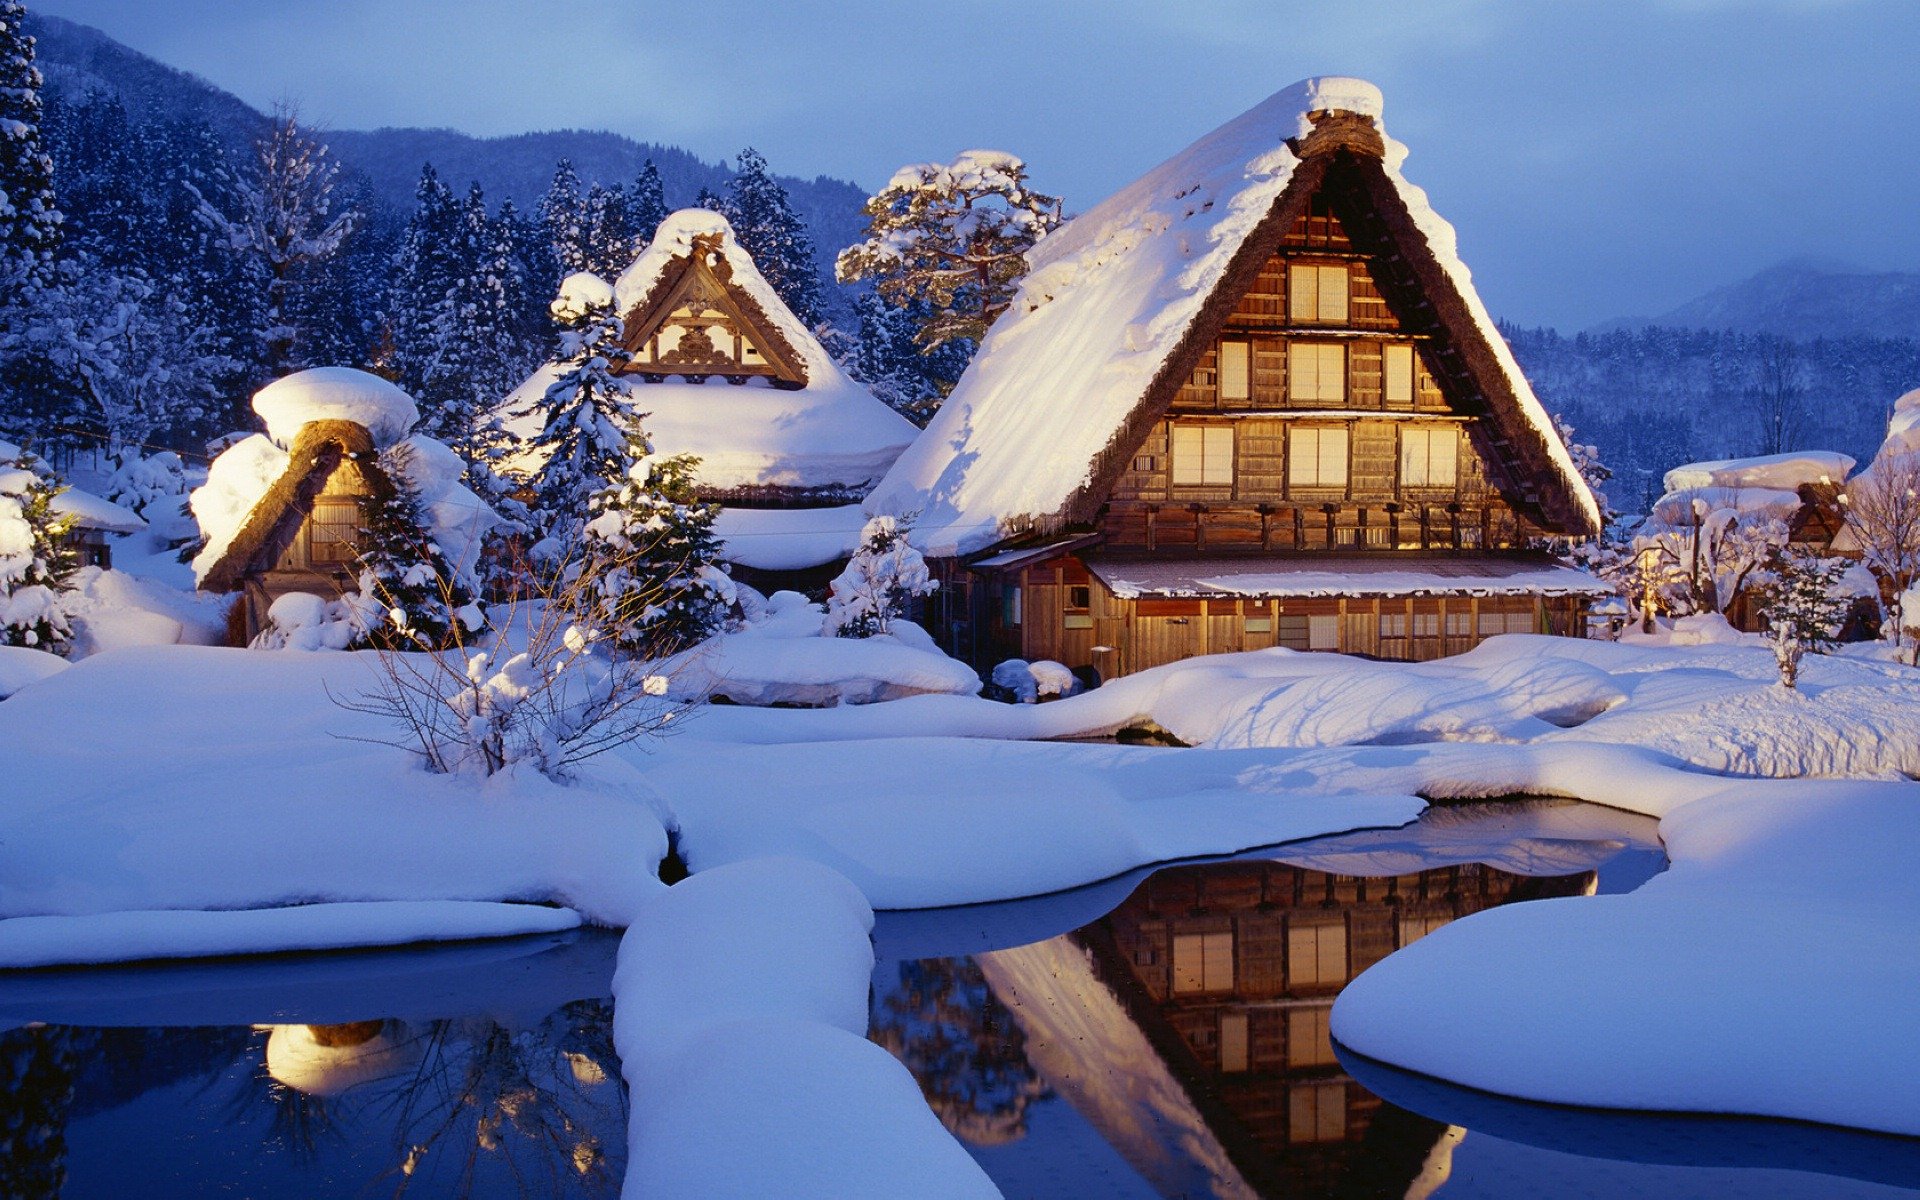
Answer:
M1382 288L1432 338L1448 394L1488 417L1517 503L1567 534L1599 505L1473 290L1453 227L1405 182L1380 92L1309 79L1254 106L1043 240L925 434L868 499L920 513L933 553L1091 522L1146 428L1321 184L1373 213Z

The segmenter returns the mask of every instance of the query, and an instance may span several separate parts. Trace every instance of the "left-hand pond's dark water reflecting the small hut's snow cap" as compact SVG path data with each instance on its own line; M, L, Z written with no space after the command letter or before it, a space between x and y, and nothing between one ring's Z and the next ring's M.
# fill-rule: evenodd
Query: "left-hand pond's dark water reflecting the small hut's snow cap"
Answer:
M0 1012L115 1025L0 1033L0 1194L614 1196L628 1116L614 945L588 933L8 981ZM280 987L257 1023L140 1023L232 1020L261 975ZM340 1020L371 981L403 1016Z

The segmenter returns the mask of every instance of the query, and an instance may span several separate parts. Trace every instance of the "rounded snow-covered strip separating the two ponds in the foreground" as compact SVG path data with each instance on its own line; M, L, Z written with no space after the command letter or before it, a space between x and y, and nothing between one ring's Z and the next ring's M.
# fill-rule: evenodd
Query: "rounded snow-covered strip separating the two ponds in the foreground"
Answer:
M628 1196L998 1196L920 1085L866 1041L874 912L831 870L737 862L620 943Z

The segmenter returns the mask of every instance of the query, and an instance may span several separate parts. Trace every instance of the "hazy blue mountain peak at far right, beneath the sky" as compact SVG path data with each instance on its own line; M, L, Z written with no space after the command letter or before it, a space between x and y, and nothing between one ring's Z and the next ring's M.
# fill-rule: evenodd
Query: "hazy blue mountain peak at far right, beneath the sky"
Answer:
M1795 259L1715 288L1659 317L1607 321L1588 332L1647 326L1784 338L1920 338L1920 273L1859 271Z

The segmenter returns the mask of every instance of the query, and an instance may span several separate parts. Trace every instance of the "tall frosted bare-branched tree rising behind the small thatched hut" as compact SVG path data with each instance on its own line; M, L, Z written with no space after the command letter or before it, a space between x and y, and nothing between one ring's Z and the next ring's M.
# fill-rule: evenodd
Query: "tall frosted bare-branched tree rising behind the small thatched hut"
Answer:
M340 252L361 213L334 213L340 169L292 109L278 109L253 142L252 169L234 179L238 213L202 196L200 221L228 253L246 263L259 286L261 372L278 378L300 367L301 330L294 324L294 290L303 273Z

